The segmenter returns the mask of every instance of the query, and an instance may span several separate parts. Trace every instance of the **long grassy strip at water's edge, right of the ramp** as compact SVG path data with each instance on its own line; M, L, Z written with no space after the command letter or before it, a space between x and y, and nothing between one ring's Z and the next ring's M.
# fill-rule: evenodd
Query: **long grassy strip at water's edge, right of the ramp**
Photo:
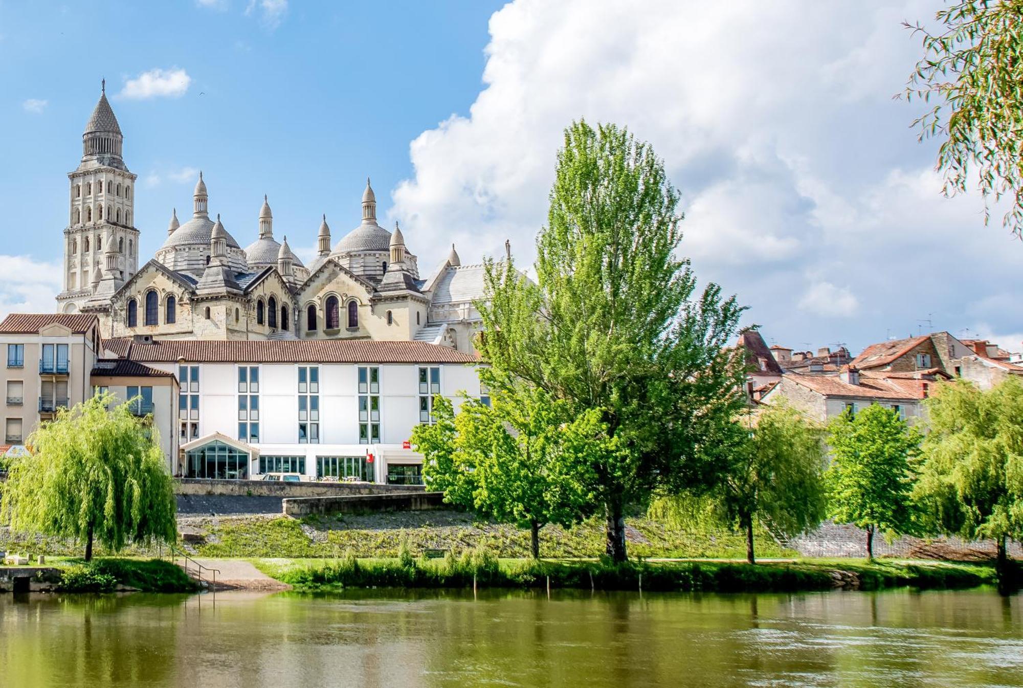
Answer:
M551 588L705 592L799 592L835 588L972 588L994 582L989 565L949 562L805 560L756 565L727 561L603 561L497 559L482 550L444 559L257 560L257 567L296 590L360 587Z

